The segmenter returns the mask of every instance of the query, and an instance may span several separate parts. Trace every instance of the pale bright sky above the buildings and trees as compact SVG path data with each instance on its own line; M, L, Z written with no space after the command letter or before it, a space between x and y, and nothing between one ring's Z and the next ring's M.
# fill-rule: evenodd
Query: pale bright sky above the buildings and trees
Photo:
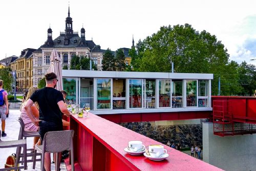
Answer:
M69 1L9 0L0 5L0 59L39 48L51 24L53 38L65 30ZM73 30L84 26L86 39L93 37L102 49L132 46L156 33L161 26L188 23L198 31L216 35L227 48L230 60L256 65L256 1L205 0L70 0Z

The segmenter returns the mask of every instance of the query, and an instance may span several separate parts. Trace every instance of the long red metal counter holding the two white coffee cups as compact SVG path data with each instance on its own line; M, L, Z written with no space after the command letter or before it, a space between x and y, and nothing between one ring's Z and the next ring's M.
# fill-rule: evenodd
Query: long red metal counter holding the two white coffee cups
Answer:
M75 161L81 170L222 170L164 144L169 157L163 161L126 154L123 149L130 140L145 146L161 143L90 113L89 118L72 116L70 123L75 131Z

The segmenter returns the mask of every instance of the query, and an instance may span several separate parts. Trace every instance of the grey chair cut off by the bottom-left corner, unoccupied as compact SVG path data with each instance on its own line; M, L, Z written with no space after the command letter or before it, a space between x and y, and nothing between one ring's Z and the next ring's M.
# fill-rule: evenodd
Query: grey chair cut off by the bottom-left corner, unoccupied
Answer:
M20 169L24 168L27 170L27 140L14 140L14 141L2 141L1 140L1 131L0 131L0 148L11 148L11 147L23 147L24 149L24 165L23 166L17 166L15 163L14 167L9 168L0 168L0 171L4 170L14 170L14 169Z

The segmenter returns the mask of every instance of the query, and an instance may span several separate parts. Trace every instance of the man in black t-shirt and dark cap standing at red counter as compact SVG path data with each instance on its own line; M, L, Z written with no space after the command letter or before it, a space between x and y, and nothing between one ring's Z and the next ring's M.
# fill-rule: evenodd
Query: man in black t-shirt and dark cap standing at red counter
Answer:
M47 132L62 131L62 113L66 116L71 115L64 103L62 93L54 89L58 81L56 74L48 73L45 79L46 87L34 92L25 105L25 110L32 122L39 123L41 140ZM34 102L39 105L39 120L34 118L30 108ZM51 170L50 153L45 154L45 169Z

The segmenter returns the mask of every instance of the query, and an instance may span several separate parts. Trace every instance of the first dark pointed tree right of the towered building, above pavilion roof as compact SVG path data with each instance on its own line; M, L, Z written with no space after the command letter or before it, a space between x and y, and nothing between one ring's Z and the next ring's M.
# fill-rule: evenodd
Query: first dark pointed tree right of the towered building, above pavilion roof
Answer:
M116 71L116 60L112 51L108 48L103 54L102 69L103 71Z

